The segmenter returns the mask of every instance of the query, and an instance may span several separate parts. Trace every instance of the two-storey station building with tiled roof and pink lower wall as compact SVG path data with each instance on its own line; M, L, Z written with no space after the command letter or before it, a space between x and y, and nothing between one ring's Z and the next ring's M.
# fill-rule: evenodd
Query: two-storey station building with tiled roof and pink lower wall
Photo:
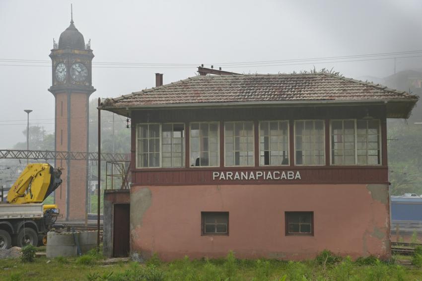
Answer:
M104 252L388 258L386 119L417 100L331 73L199 75L106 99L131 118L132 185L106 190Z

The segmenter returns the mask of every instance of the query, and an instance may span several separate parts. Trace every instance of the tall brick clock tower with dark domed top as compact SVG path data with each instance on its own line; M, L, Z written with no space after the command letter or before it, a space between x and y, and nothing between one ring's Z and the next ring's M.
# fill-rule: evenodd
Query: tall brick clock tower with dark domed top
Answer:
M52 86L55 97L55 150L88 151L89 96L92 87L92 58L90 41L73 24L53 40L51 50ZM62 185L55 191L55 203L67 221L85 220L88 192L88 160L56 160L63 167Z

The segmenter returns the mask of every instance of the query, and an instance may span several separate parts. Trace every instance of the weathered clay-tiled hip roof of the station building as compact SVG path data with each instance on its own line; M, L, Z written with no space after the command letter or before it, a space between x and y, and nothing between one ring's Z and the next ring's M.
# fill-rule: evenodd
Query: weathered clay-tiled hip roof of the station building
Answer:
M119 98L101 108L146 108L193 104L409 101L417 96L330 73L195 76Z

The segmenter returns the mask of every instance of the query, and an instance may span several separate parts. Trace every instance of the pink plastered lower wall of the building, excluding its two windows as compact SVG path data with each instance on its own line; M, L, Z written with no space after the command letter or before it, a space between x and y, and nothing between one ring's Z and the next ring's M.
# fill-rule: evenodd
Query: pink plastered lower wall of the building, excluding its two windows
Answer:
M374 188L376 192L374 192ZM372 190L372 192L370 191ZM229 212L229 236L201 236L201 212ZM313 211L314 236L285 236L285 211ZM390 256L388 186L199 185L131 188L131 251L163 260Z

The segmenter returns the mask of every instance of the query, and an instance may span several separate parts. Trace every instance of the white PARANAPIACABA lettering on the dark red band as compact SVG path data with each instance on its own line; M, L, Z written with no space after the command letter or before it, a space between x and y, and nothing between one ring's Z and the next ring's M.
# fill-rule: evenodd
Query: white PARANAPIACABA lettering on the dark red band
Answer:
M212 180L302 179L299 171L213 171Z

